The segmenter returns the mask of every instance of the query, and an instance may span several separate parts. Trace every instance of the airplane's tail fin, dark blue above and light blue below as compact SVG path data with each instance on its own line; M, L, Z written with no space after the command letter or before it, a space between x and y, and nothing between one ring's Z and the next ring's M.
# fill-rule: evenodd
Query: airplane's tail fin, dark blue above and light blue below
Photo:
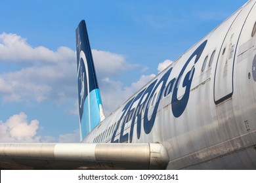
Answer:
M104 111L85 20L75 30L80 135L83 140L102 120Z

